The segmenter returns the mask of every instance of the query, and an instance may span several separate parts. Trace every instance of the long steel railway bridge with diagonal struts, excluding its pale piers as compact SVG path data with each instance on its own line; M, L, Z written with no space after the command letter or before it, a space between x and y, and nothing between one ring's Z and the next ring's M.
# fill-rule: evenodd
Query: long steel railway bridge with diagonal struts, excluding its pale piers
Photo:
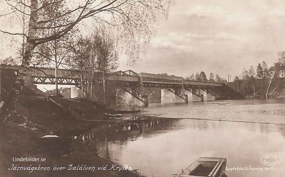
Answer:
M1 64L0 68L5 71L10 70L17 72L20 67ZM188 98L186 98L184 94L184 89L200 98L203 96L201 95L201 90L218 98L229 98L229 95L233 94L233 90L230 90L230 88L223 83L189 81L184 80L183 77L174 75L170 76L151 73L135 73L134 75L129 75L127 73L135 72L128 70L128 72L120 71L110 73L106 75L106 80L121 81L120 84L118 84L118 87L124 88L128 93L144 104L147 104L144 99L147 97L144 88L147 87L165 88L184 99L186 102L188 102ZM83 79L85 75L86 73L81 75L78 71L58 69L58 84L75 86L81 86L81 84L85 85L87 83L87 81ZM55 84L56 80L54 68L30 67L27 76L28 82L32 84ZM95 73L94 80L102 81L102 73Z

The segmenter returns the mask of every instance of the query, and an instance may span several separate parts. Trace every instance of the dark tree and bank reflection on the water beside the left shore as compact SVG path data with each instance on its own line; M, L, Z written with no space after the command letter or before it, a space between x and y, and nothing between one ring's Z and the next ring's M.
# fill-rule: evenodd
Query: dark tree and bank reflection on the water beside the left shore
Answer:
M178 130L180 119L153 118L139 123L102 124L88 131L74 135L74 139L81 142L116 141L125 144L127 141L140 137L157 136L165 132Z

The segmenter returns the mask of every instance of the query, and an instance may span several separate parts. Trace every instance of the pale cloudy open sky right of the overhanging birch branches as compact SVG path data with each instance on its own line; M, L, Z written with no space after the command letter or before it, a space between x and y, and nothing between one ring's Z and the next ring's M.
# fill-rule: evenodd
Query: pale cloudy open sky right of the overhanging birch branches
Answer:
M272 66L285 50L284 0L175 2L141 60L129 66L121 56L118 70L233 80L263 60Z

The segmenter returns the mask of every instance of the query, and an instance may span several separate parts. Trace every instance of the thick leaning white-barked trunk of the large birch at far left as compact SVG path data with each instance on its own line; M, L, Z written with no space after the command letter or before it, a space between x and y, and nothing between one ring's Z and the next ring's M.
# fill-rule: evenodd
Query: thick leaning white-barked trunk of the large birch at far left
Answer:
M32 54L34 52L34 48L36 47L36 43L34 39L35 39L37 18L38 18L37 8L38 8L38 1L31 0L30 20L29 20L29 29L28 29L26 49L25 49L25 53L23 56L23 60L22 60L22 64L20 66L19 72L17 73L16 81L14 83L13 88L11 89L11 92L9 93L9 97L7 99L8 101L5 103L1 111L1 118L0 118L1 128L3 127L7 119L10 117L12 111L16 107L17 100L20 97L20 92L23 89L23 86L25 83L25 76L27 75L27 71L28 71L28 68L32 60Z

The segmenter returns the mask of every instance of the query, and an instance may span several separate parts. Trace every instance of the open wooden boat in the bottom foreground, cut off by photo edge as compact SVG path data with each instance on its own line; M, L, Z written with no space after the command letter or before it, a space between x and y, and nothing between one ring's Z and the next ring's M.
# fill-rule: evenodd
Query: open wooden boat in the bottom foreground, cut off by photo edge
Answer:
M226 177L224 174L227 159L216 157L200 157L189 165L177 177Z

